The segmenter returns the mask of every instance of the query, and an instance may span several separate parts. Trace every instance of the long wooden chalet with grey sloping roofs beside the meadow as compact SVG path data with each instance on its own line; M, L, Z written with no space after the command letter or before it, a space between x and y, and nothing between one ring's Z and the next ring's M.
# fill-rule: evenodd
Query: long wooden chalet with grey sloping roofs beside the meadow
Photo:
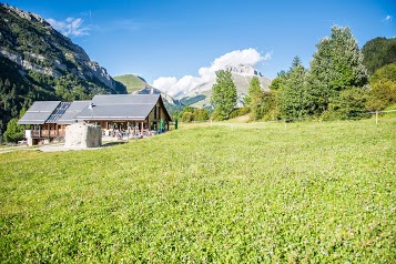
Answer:
M172 121L160 94L95 95L91 101L37 101L18 121L26 130L29 145L63 139L69 124L84 122L102 128L103 134L125 131L146 134L169 130Z

